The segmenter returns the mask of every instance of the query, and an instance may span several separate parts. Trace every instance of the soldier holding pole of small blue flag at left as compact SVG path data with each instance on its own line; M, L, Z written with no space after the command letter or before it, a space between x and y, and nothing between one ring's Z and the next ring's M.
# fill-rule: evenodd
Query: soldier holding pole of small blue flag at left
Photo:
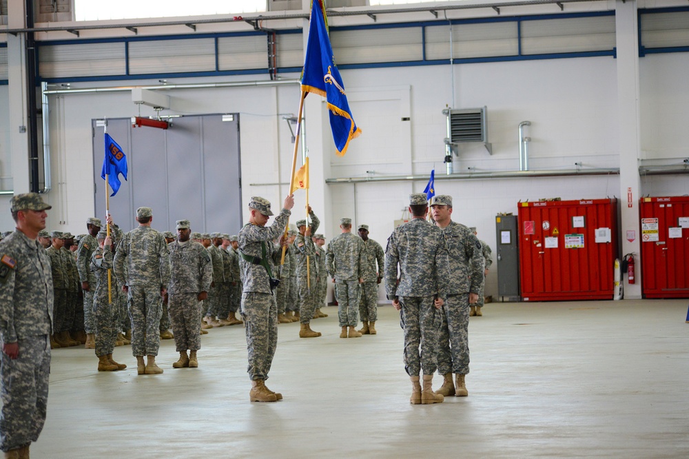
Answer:
M118 304L117 294L113 294L115 284L112 276L108 279L108 272L112 269L112 238L107 236L106 230L98 232L98 248L91 256L90 269L95 274L96 283L90 286L93 292L93 319L96 327L96 357L98 357L98 371L115 371L127 368L123 363L117 363L112 358L112 350L119 327L117 326Z

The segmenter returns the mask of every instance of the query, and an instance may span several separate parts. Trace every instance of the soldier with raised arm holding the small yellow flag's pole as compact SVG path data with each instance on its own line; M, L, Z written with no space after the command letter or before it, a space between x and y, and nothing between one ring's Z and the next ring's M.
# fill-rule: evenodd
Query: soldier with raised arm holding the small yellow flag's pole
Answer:
M316 248L311 241L311 234L316 234L320 220L309 205L311 225L307 228L306 220L299 220L296 226L299 230L294 244L297 263L297 288L299 296L299 338L318 338L320 332L311 329L313 311L316 309Z

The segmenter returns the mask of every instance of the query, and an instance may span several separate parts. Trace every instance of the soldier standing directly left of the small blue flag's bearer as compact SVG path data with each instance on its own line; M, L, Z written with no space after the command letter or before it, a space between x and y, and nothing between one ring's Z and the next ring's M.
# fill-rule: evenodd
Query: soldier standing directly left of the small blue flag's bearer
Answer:
M79 246L76 249L76 269L79 271L79 281L81 282L81 289L83 290L83 328L86 331L86 349L94 349L96 342L94 334L96 327L93 322L93 292L96 282L94 273L90 269L91 256L95 252L98 243L96 242L96 235L101 231L103 223L100 218L91 217L86 221L86 229L88 234L81 238ZM79 314L77 314L79 316ZM80 328L81 329L81 328Z

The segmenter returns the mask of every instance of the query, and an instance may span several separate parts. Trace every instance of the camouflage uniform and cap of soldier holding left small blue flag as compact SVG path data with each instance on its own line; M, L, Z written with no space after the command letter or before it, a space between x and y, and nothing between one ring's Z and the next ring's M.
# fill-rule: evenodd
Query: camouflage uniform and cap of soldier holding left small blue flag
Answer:
M104 233L104 232L101 232ZM99 233L105 238L105 234ZM96 356L112 354L115 348L115 340L119 333L117 324L118 305L115 283L110 285L110 294L107 289L107 272L112 269L112 249L110 247L97 247L91 256L91 272L95 274L96 283L90 284L93 290L93 320L96 327ZM112 296L112 301L110 300Z

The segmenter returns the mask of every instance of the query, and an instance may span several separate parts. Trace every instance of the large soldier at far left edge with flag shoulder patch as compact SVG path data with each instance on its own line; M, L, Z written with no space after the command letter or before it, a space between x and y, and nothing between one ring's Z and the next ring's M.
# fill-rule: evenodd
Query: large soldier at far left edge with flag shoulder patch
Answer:
M29 457L48 408L52 274L36 239L50 208L37 193L13 196L17 230L0 242L0 449L6 458Z

